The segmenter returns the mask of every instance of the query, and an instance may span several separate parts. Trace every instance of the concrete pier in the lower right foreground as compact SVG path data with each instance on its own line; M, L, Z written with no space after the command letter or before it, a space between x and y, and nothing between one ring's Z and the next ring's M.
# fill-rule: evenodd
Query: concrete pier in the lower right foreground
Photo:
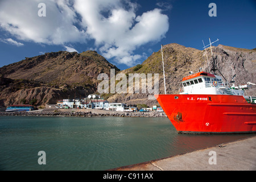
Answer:
M256 136L110 171L255 171Z

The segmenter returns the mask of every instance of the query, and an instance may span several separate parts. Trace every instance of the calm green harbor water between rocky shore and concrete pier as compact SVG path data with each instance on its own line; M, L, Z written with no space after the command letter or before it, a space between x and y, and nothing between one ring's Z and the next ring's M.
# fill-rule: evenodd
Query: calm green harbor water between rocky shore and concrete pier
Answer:
M0 117L0 170L106 170L254 135L177 134L168 118Z

